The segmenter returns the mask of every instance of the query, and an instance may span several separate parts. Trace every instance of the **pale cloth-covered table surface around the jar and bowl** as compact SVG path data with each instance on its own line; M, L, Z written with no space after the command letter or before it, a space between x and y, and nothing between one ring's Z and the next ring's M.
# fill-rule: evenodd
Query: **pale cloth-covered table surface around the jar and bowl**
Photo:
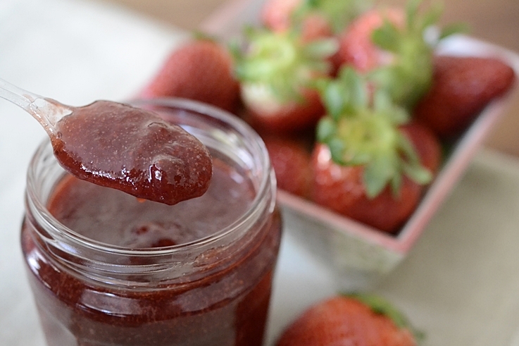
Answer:
M80 106L136 94L185 37L87 0L1 0L0 78ZM0 345L43 346L19 247L25 171L42 128L0 99ZM289 228L289 225L287 225ZM377 292L427 333L425 345L519 345L519 163L482 152L415 249ZM330 273L284 235L268 344Z

